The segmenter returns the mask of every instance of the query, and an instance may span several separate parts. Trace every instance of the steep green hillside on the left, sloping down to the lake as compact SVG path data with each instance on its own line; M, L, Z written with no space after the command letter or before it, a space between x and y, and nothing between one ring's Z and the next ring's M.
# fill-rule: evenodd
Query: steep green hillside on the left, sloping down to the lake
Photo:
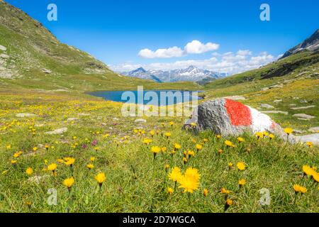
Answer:
M199 89L192 82L157 84L112 72L86 52L60 43L41 23L0 1L0 89L84 92L103 89Z

